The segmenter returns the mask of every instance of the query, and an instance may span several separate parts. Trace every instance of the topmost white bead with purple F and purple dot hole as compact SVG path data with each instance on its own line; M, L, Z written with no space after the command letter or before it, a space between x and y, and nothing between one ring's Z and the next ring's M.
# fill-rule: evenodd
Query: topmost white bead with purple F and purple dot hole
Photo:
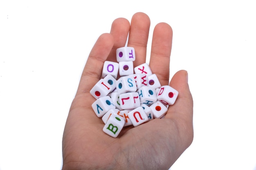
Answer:
M117 62L135 61L135 50L133 47L125 46L117 49Z

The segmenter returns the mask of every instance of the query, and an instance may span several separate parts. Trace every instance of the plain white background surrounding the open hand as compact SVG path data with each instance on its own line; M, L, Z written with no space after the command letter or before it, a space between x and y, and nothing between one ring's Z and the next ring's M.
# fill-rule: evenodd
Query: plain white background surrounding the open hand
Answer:
M171 170L256 169L253 0L1 0L0 170L59 170L90 49L136 12L173 28L171 76L189 73L194 141Z

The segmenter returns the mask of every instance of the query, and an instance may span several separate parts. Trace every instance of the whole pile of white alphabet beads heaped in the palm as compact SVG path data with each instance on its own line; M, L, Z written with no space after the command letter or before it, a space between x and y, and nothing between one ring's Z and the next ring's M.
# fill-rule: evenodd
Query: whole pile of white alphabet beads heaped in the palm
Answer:
M90 91L96 99L92 108L105 124L103 131L112 137L124 126L136 127L164 117L178 95L171 86L161 86L148 64L133 67L133 47L117 49L116 57L117 62L104 62L102 78Z

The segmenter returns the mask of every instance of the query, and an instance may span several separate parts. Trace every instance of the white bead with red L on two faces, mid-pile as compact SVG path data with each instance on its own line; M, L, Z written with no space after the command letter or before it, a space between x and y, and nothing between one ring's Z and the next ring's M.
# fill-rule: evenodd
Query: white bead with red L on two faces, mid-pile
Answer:
M122 93L119 95L119 103L123 110L134 109L140 106L137 92Z

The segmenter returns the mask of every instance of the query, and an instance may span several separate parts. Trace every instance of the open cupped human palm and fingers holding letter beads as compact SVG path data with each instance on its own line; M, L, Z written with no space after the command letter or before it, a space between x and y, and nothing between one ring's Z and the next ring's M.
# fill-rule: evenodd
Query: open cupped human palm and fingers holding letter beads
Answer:
M137 127L125 127L117 138L103 132L103 121L92 110L95 101L89 93L101 78L104 61L115 61L115 51L126 44L135 48L134 67L146 62L150 19L135 13L131 24L125 18L112 23L103 33L85 64L79 87L72 102L63 134L63 170L161 170L168 169L193 140L193 99L188 74L178 71L169 84L169 64L173 32L159 23L153 32L150 68L161 85L179 91L174 105L163 119L153 119Z

